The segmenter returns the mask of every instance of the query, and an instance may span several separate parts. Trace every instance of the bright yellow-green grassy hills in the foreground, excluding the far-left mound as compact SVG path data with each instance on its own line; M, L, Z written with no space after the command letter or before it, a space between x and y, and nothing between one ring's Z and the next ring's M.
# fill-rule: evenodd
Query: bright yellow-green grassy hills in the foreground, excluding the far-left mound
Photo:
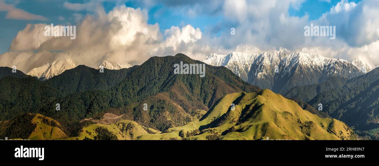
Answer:
M232 103L235 104L232 109ZM133 124L133 130L121 130L121 123ZM92 124L83 128L80 136L66 139L95 139L102 127L117 139L138 140L213 140L213 139L291 139L291 140L350 140L357 139L345 123L321 118L303 110L293 100L265 89L261 92L228 94L213 106L200 121L172 127L159 132L132 121L112 124ZM150 130L150 131L149 131ZM135 133L133 133L135 132ZM133 133L133 134L132 134Z

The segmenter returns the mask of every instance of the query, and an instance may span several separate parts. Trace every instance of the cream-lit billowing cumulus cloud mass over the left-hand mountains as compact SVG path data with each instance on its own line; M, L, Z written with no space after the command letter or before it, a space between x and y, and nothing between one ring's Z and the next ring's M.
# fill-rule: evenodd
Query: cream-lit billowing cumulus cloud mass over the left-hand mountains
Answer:
M117 6L108 14L100 8L77 25L77 38L44 36L46 24L27 25L13 39L10 52L0 55L0 66L17 66L24 72L56 59L97 67L103 60L141 64L151 56L181 52L202 38L191 25L160 32L147 23L147 11Z

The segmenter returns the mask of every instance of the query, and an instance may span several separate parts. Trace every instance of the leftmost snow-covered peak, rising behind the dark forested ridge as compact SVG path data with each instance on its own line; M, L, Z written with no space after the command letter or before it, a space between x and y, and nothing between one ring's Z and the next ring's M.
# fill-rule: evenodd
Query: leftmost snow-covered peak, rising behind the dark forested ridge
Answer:
M46 80L75 67L76 65L72 60L55 60L41 67L31 69L28 75L37 77L40 80Z

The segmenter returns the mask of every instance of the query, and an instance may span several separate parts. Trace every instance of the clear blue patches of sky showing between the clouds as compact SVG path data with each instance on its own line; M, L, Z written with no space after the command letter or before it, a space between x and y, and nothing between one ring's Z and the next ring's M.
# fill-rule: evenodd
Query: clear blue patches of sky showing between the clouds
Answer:
M353 0L358 2L359 0ZM8 4L12 4L13 1L6 0ZM70 3L84 3L88 1L83 0L70 0ZM290 16L302 17L306 13L309 14L310 20L315 20L320 17L323 13L336 5L338 0L331 0L330 3L320 0L306 0L302 3L301 7L297 10L293 7L290 7L288 14ZM27 11L31 14L36 14L44 16L47 18L46 21L43 20L15 20L15 19L6 19L6 11L0 11L0 31L2 31L2 40L0 40L0 53L7 52L9 46L11 45L12 39L16 36L17 32L23 30L28 23L54 23L54 24L75 24L75 19L72 18L72 11L64 8L64 1L40 1L40 0L21 0L15 5L16 8ZM106 12L111 11L116 2L102 2L103 8ZM132 8L145 8L148 10L149 14L149 24L158 23L161 31L164 29L169 29L171 26L179 26L190 24L193 27L199 27L203 33L208 33L210 36L219 36L220 28L215 28L214 25L217 25L221 20L224 19L222 14L209 14L209 13L200 13L196 16L188 16L187 13L178 11L178 8L173 6L168 6L164 4L155 4L153 6L146 7L145 4L126 2L126 6ZM90 11L77 11L83 15L91 14ZM65 20L59 20L58 17L64 17ZM222 28L222 27L221 27Z

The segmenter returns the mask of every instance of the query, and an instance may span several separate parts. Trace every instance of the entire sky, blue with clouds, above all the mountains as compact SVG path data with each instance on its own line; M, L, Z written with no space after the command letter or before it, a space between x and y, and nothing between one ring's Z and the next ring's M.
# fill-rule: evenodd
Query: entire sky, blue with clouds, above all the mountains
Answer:
M105 59L141 64L184 53L202 60L280 47L373 65L378 15L378 0L0 0L0 66L28 72L66 56L96 66ZM76 25L77 38L45 36L51 23ZM311 23L335 26L335 39L304 35Z

